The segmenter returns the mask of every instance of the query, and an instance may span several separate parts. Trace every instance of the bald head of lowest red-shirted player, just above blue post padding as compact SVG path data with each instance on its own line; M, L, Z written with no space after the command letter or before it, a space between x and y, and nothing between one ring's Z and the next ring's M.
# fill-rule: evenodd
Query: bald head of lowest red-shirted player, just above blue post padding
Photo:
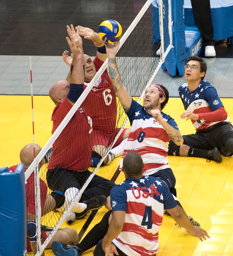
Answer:
M37 156L40 153L41 147L38 144L35 144L35 156ZM22 164L25 165L25 169L29 167L29 165L34 160L34 150L33 150L33 143L30 143L26 146L24 146L20 151L20 161Z

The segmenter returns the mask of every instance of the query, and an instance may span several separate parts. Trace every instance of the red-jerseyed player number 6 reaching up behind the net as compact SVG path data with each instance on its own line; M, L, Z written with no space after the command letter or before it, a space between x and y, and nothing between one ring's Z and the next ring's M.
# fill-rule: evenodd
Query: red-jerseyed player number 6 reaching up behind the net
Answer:
M76 28L79 31L79 35L83 36L85 39L91 40L97 47L94 61L91 60L90 56L84 54L84 89L86 89L96 75L96 72L107 59L107 54L105 45L98 33L88 27L78 26ZM63 52L63 61L71 67L72 58L68 57L68 51ZM70 72L66 80L70 81ZM96 166L119 131L119 129L115 128L117 118L116 94L113 90L107 69L105 69L86 99L83 101L83 106L88 111L88 115L92 120L93 150L91 164L92 166ZM105 165L110 164L114 157L122 155L128 134L129 129L124 129L115 142L114 148L105 158Z

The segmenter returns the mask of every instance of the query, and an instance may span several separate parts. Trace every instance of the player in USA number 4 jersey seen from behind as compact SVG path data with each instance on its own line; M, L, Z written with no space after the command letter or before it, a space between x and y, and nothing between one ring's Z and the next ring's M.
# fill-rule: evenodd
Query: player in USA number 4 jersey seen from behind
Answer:
M161 179L143 176L143 167L142 157L129 151L122 167L126 180L111 190L112 214L106 213L80 244L53 242L54 254L79 256L97 244L95 256L155 255L159 250L158 231L164 209L192 236L201 241L210 238L204 229L190 223Z

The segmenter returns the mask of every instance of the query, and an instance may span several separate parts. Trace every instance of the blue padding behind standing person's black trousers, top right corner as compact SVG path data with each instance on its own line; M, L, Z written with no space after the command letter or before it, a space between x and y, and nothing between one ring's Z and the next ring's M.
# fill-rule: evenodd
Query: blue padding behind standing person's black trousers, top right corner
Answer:
M233 37L233 1L210 0L210 7L214 28L213 39L219 41ZM185 25L195 26L190 0L184 0L184 17Z

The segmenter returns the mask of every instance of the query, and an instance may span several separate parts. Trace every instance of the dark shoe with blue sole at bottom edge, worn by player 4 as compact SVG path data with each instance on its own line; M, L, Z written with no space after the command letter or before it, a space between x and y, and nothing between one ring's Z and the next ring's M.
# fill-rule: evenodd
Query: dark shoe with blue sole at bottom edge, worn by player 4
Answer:
M59 242L52 243L52 251L57 256L79 256L83 250L75 244L62 244Z

